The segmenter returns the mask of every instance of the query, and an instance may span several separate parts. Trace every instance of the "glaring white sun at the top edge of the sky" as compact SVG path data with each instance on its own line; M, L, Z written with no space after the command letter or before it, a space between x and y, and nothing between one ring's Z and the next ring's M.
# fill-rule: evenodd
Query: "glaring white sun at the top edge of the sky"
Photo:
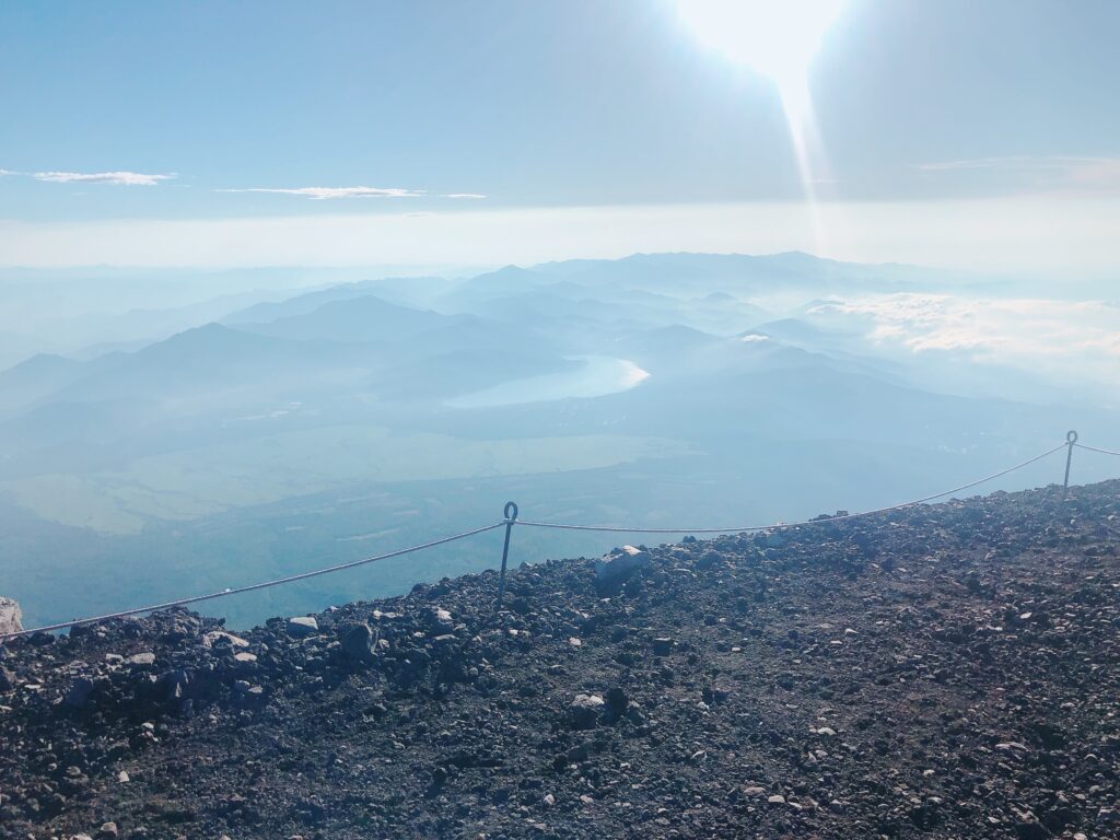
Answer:
M803 86L821 37L844 0L678 0L697 38L769 76L783 96Z

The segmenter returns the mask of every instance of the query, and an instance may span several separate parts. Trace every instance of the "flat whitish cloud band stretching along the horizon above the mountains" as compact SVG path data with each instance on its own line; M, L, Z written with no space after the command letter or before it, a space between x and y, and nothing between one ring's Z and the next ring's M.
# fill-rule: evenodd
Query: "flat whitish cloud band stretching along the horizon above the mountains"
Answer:
M358 204L420 209L410 202ZM0 265L504 265L636 251L809 251L850 262L908 262L998 277L1052 273L1099 282L1110 296L1120 271L1120 200L1113 199L823 202L815 214L802 202L486 205L448 199L423 216L293 208L276 216L0 220Z

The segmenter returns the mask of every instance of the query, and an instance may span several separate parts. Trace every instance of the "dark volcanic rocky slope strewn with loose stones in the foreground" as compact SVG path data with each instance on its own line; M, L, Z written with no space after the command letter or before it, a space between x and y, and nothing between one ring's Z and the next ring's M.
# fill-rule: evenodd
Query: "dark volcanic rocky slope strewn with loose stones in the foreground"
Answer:
M1120 837L1120 482L644 559L10 643L0 836Z

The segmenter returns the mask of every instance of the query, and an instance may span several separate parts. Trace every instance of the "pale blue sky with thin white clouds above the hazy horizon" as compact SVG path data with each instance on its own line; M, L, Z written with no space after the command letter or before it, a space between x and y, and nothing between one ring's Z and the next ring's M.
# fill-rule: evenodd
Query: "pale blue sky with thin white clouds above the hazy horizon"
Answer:
M699 37L697 1L4 3L0 267L1120 276L1120 4L828 0L806 171L785 88Z

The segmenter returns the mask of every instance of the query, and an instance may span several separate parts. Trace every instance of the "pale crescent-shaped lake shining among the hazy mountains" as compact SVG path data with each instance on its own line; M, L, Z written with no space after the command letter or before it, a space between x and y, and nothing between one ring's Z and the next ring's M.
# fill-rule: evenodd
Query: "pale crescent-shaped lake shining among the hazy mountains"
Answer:
M650 377L626 358L610 356L573 356L584 365L575 371L547 373L503 382L501 385L457 396L448 405L459 409L478 409L493 405L514 405L522 402L564 400L572 396L603 396L627 391Z

